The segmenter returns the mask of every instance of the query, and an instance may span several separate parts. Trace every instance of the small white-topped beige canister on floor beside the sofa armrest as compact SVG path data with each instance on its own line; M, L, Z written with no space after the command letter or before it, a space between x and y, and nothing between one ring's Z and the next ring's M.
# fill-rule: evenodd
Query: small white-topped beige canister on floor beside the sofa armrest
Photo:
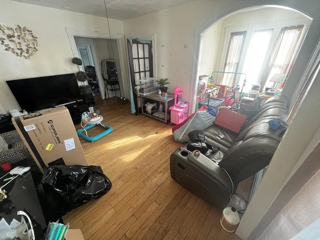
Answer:
M234 207L225 207L223 209L220 224L225 231L234 232L239 222L239 213Z

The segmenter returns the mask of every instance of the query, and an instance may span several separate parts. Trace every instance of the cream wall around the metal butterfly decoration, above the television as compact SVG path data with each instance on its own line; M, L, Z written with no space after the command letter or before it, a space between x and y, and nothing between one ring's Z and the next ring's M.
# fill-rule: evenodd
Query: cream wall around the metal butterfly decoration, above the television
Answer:
M38 37L38 51L24 59L0 46L0 113L19 106L5 80L76 72L65 27L108 32L106 18L0 0L0 22L10 27L26 26ZM123 34L122 21L109 19L111 34ZM27 94L27 93L26 93Z

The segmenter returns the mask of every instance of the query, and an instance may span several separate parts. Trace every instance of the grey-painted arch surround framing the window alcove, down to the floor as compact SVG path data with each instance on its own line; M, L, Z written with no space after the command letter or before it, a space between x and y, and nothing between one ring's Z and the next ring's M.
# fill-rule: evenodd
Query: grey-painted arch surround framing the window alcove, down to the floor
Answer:
M220 19L223 19L228 14L236 12L240 9L250 8L253 6L263 5L263 4L274 4L274 5L285 5L285 7L290 7L291 9L298 9L300 12L306 14L312 18L312 24L309 27L308 33L305 36L304 42L300 48L300 52L297 55L295 62L292 66L290 73L290 84L287 84L285 89L283 89L282 94L285 94L289 99L299 91L300 83L303 82L305 77L309 75L310 69L312 69L314 63L314 54L316 53L316 47L319 44L318 36L320 35L320 14L318 12L319 2L315 0L308 1L284 1L284 0L243 0L233 2L234 4L229 4L227 7L212 13L207 21L205 21L200 27L196 29L195 34L195 45L194 45L194 61L192 64L192 80L191 80L191 92L189 102L191 102L191 109L194 109L194 93L195 86L197 82L197 72L198 72L198 60L200 56L200 44L201 44L201 34L213 23ZM318 54L318 52L317 52ZM310 64L312 64L310 66ZM313 81L312 86L315 84ZM311 87L311 89L314 89ZM193 92L192 92L193 91ZM314 91L309 91L306 93L311 99L316 97ZM304 102L306 103L306 102ZM306 104L304 104L306 106ZM312 109L304 108L310 115L312 115ZM261 221L262 217L265 215L269 209L271 203L276 198L278 193L281 191L283 185L287 181L287 178L293 174L296 169L299 168L301 162L305 160L303 153L305 152L306 146L313 140L314 132L318 131L318 124L316 120L311 119L311 124L305 125L304 131L309 132L309 135L304 135L299 138L302 145L297 146L292 151L292 138L299 137L301 135L300 129L296 127L298 122L303 121L302 117L302 107L300 107L296 112L296 117L292 121L292 128L289 130L290 137L285 137L282 139L279 148L277 149L275 155L272 159L272 165L268 168L268 174L266 174L260 183L253 199L251 200L245 214L243 215L241 222L237 228L236 234L242 239L247 239L250 233L254 230L256 225ZM294 127L293 127L294 125ZM288 133L287 132L287 135ZM312 133L313 132L313 133ZM291 154L292 153L292 154ZM289 155L289 156L288 156ZM283 164L283 159L285 159L285 164Z

